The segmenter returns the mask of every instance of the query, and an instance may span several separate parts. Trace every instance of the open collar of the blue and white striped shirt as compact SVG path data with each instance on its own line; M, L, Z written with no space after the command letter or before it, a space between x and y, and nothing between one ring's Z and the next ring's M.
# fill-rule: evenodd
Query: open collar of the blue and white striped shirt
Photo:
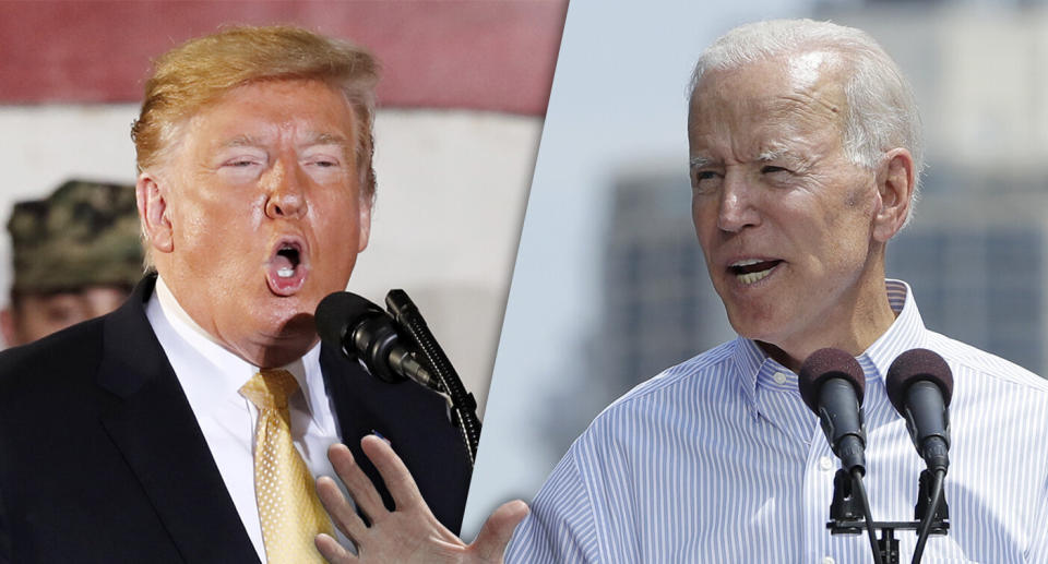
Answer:
M913 291L903 280L884 280L888 301L895 312L895 321L862 355L856 357L867 380L883 379L898 355L924 343L925 324L917 311ZM739 337L734 341L731 358L747 403L757 409L757 388L795 391L797 375L772 359L752 339ZM785 376L785 379L784 379Z

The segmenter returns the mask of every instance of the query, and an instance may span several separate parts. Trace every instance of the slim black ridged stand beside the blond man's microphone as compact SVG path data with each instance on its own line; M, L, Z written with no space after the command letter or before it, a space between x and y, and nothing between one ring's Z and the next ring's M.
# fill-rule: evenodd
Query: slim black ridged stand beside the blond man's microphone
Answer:
M462 432L466 454L469 456L469 466L473 466L477 459L477 445L480 442L477 400L473 394L466 392L462 379L458 377L455 368L451 365L448 356L429 331L415 302L407 297L407 292L398 289L390 290L385 296L385 305L397 324L415 341L421 352L419 360L436 377L440 392L448 396L451 421Z

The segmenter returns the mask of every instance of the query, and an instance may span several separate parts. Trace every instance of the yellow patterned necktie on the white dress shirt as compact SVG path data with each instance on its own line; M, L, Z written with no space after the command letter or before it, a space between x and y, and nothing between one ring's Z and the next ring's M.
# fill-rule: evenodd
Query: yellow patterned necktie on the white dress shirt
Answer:
M323 562L313 537L332 535L313 476L291 443L287 398L298 382L286 370L263 370L240 388L259 408L254 428L254 495L270 564Z

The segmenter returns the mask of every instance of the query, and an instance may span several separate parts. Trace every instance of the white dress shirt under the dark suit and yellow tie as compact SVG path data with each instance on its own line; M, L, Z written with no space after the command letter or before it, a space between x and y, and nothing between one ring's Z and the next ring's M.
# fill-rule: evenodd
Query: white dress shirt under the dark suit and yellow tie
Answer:
M259 559L265 562L254 496L252 451L259 411L239 393L240 386L259 372L259 367L223 348L193 322L164 278L157 277L156 291L146 304L145 315L196 416L248 537ZM327 447L341 439L320 369L320 345L283 368L295 376L300 389L288 398L295 446L314 477L334 476ZM347 545L348 541L337 531L336 535L343 545Z

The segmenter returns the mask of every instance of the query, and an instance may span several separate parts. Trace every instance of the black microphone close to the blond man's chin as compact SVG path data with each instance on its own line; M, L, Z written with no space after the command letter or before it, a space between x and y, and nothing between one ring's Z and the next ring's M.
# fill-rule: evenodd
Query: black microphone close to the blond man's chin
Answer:
M367 299L347 291L332 293L317 305L314 319L324 345L350 360L360 359L380 380L395 383L412 379L439 389L426 367L400 344L393 319Z

